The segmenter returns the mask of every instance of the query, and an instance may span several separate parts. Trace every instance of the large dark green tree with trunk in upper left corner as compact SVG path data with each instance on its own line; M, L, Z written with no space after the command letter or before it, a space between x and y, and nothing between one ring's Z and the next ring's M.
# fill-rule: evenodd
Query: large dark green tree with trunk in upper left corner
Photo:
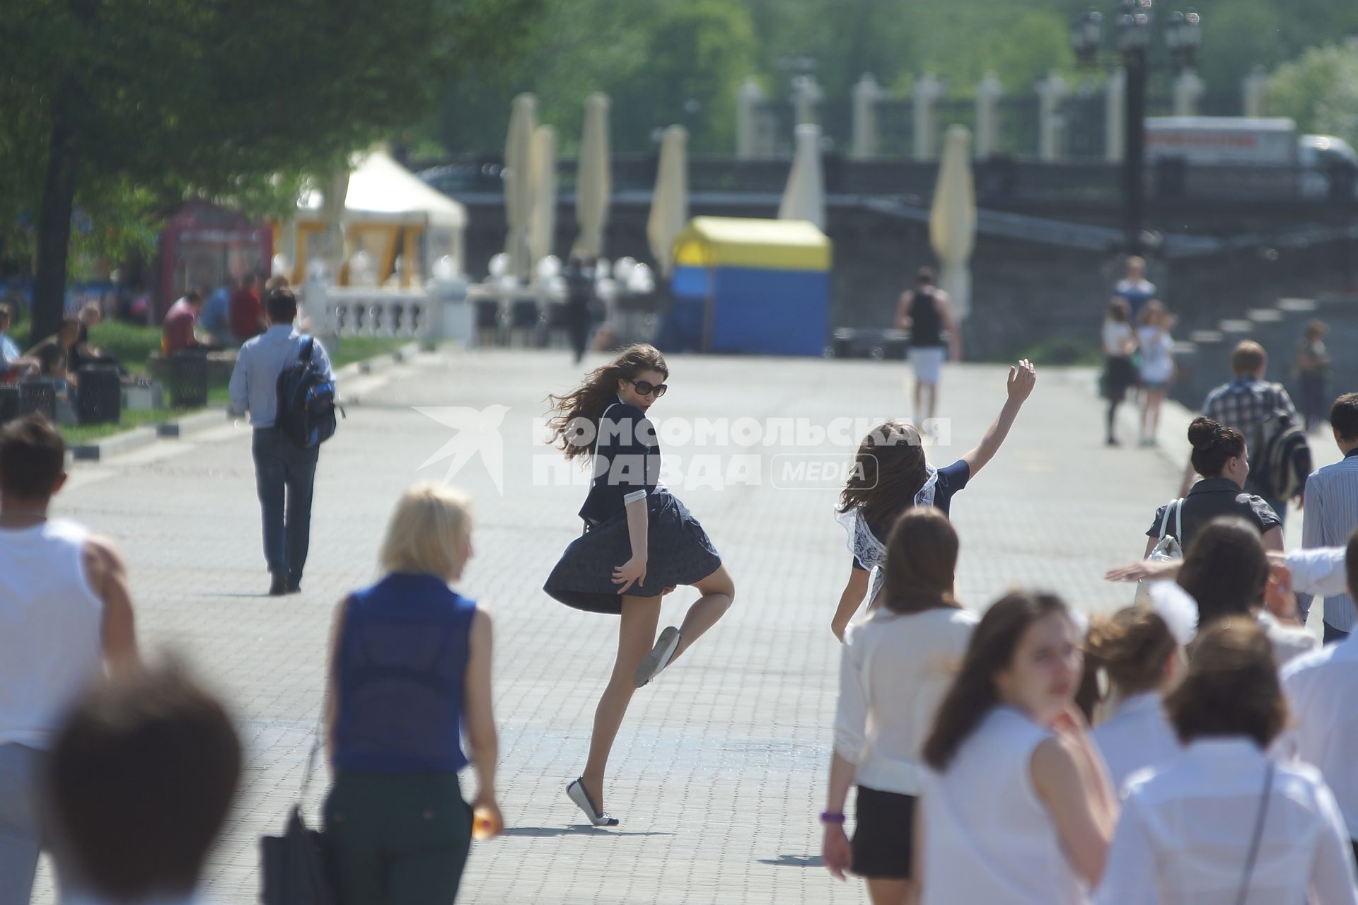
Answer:
M300 174L344 166L449 77L516 49L538 5L10 0L0 172L18 175L0 216L35 212L34 335L58 324L77 206L133 240L193 195L285 208Z

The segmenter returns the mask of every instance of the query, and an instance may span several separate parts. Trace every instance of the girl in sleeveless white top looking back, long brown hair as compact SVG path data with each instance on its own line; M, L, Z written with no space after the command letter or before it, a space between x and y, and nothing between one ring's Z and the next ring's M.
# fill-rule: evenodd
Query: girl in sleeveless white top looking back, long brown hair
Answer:
M1059 597L1012 593L980 617L923 748L923 905L1086 901L1118 802L1074 706L1081 666Z

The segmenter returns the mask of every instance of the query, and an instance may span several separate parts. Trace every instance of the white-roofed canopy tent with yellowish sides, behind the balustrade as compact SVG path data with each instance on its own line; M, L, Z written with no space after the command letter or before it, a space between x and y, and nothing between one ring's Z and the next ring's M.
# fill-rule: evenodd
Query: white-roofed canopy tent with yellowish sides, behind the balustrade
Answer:
M338 285L422 286L443 258L451 259L454 273L466 270L467 209L430 189L386 151L354 155L340 223L344 250L331 261ZM297 199L291 229L293 242L280 242L280 247L295 250L292 280L301 282L312 262L330 256L323 248L322 190L304 191Z

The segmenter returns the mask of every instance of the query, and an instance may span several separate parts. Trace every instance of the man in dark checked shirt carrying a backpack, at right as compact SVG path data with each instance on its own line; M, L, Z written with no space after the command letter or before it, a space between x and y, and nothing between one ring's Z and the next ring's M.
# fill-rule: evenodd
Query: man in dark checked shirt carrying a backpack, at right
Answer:
M1234 373L1234 380L1207 393L1207 399L1202 403L1202 414L1205 418L1211 418L1218 425L1225 425L1226 427L1234 427L1245 436L1245 442L1249 444L1251 459L1249 478L1245 479L1245 493L1263 497L1264 502L1278 513L1278 518L1286 524L1287 499L1274 493L1274 487L1264 484L1271 471L1267 467L1270 463L1264 459L1268 450L1260 448L1260 444L1256 442L1256 436L1259 427L1274 412L1285 415L1291 419L1291 423L1296 423L1297 408L1291 404L1291 396L1287 395L1282 384L1264 380L1264 369L1267 366L1268 353L1264 351L1263 346L1252 339L1241 342L1230 353L1230 370ZM1291 457L1289 464L1294 476L1293 483L1297 487L1297 491L1291 497L1300 502L1305 490L1306 475L1310 474L1310 448L1305 442L1293 445L1291 449L1287 449L1286 445L1279 445L1278 453L1286 453ZM1192 463L1188 463L1188 467L1184 469L1183 484L1179 488L1180 497L1187 494L1192 486L1194 474ZM1343 537L1347 536L1347 533L1343 535ZM1343 537L1335 543L1343 543Z

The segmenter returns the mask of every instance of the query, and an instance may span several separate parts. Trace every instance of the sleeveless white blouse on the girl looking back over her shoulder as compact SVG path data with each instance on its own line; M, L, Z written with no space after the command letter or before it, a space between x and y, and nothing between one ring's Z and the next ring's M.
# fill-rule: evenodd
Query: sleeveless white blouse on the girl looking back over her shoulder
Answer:
M1051 730L995 707L948 769L925 773L923 905L1084 905L1031 761Z

